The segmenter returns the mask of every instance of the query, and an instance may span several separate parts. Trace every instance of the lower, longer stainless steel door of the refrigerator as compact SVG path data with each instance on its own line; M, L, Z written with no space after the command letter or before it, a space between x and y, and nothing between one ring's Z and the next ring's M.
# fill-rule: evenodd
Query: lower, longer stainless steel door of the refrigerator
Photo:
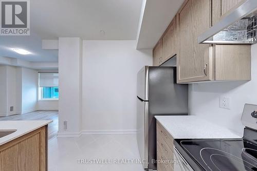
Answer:
M148 168L148 103L137 98L137 145L144 168Z

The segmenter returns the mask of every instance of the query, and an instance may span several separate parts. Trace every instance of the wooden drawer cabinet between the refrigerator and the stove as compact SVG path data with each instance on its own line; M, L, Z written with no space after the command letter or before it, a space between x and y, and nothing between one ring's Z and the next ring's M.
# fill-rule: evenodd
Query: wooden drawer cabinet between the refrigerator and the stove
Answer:
M173 137L157 121L157 171L169 171L174 168Z

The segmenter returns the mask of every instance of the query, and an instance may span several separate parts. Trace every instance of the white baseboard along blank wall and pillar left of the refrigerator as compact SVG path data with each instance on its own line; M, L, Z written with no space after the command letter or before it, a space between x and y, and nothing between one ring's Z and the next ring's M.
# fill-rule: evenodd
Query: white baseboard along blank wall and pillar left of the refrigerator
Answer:
M62 132L57 137L80 137L81 135L137 134L137 130L82 130L81 132Z

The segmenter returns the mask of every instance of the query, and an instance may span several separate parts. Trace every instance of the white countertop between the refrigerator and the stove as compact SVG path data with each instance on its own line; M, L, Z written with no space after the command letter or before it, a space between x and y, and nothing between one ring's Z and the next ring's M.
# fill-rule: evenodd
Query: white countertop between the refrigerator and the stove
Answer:
M155 116L174 139L242 138L235 132L196 116Z

